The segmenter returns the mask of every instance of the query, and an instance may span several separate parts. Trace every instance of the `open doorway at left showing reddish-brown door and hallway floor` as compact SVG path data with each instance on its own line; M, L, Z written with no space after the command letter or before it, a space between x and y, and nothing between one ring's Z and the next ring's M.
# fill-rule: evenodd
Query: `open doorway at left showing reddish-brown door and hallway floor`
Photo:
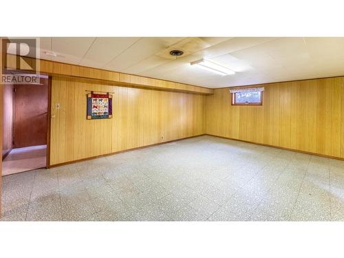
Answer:
M50 80L6 85L3 101L3 171L10 175L47 167Z

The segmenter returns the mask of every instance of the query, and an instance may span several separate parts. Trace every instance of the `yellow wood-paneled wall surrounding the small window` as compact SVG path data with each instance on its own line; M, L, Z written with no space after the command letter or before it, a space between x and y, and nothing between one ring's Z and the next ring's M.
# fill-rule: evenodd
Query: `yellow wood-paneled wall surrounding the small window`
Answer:
M206 133L344 158L344 77L259 86L262 106L233 106L228 89L206 96Z

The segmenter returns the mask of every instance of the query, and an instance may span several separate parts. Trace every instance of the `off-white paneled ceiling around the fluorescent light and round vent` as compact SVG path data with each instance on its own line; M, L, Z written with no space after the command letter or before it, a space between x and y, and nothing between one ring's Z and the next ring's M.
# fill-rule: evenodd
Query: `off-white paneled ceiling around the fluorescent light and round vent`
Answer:
M184 55L170 56L174 49ZM209 88L342 76L343 50L344 38L40 38L43 59ZM190 65L202 58L235 74Z

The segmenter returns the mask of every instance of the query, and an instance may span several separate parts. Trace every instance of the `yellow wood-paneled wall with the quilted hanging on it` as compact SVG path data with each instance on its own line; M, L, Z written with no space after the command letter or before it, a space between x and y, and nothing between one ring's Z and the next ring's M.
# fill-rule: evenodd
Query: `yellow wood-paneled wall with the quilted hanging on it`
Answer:
M86 120L86 90L114 92L113 118ZM50 165L201 135L205 98L53 76Z

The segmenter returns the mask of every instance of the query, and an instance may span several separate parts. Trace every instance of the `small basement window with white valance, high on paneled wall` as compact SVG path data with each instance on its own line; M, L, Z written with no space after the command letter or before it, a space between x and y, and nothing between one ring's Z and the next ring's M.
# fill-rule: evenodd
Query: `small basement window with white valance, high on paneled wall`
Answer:
M264 87L230 89L232 105L262 105Z

